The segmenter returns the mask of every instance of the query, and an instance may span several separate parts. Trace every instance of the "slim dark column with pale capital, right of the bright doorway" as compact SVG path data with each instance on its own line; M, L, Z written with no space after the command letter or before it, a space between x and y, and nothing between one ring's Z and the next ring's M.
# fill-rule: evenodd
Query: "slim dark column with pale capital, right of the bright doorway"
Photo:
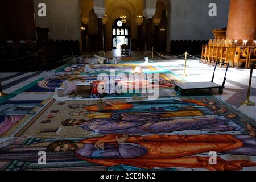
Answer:
M147 31L146 31L146 48L152 49L152 17L155 15L155 8L148 8L143 11L144 17L147 18Z

